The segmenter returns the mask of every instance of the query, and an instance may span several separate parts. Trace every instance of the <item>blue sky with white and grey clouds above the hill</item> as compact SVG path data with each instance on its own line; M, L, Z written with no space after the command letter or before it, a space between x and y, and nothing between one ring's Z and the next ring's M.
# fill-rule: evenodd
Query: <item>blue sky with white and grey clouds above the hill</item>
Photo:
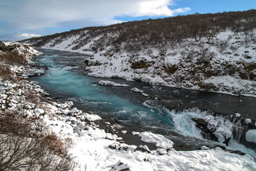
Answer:
M0 40L193 13L256 9L256 0L0 0Z

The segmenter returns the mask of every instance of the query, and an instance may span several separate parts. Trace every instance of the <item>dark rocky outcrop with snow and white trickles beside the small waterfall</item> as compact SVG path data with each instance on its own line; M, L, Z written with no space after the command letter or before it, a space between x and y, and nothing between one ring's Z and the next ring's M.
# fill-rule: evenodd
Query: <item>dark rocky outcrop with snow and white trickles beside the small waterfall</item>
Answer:
M249 130L256 129L255 121L251 119L240 118L240 115L231 115L227 117L207 115L203 118L192 118L196 128L201 131L202 137L216 142L222 142L228 145L231 138L234 138L240 144L256 150L256 143L246 139L246 133ZM246 122L247 121L247 122Z

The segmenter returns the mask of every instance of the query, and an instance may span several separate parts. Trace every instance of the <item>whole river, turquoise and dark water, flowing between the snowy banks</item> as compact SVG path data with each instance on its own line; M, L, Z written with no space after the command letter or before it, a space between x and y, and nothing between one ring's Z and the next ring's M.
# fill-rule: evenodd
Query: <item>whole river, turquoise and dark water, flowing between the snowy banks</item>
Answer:
M35 62L47 66L49 70L45 75L31 77L30 80L39 82L52 98L60 102L72 100L81 110L102 117L115 117L124 124L160 133L174 143L193 146L193 149L202 145L223 145L202 138L191 121L192 117L207 115L209 111L223 115L238 112L255 119L256 98L128 82L116 78L88 77L85 75L83 61L89 56L59 50L40 51L44 54L35 57ZM129 87L99 85L99 80L111 80ZM143 90L149 96L134 93L131 91L133 87ZM256 156L254 151L236 142L230 144L231 149L232 146Z

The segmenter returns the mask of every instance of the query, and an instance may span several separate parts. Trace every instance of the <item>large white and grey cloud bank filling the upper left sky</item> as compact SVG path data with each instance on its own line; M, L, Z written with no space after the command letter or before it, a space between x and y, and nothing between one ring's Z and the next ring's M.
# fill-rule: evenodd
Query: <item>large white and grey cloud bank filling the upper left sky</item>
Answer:
M0 30L31 33L45 27L80 28L120 22L115 17L173 16L175 0L12 0L1 1ZM93 24L93 25L92 25ZM7 30L7 29L6 29ZM0 32L3 34L3 31ZM33 32L32 32L33 33Z

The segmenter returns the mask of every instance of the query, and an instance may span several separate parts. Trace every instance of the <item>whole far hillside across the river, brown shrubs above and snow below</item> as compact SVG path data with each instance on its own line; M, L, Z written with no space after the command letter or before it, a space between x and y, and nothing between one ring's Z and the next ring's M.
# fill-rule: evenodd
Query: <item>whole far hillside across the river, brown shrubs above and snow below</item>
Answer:
M88 75L256 96L256 10L86 27L24 40L92 54Z

